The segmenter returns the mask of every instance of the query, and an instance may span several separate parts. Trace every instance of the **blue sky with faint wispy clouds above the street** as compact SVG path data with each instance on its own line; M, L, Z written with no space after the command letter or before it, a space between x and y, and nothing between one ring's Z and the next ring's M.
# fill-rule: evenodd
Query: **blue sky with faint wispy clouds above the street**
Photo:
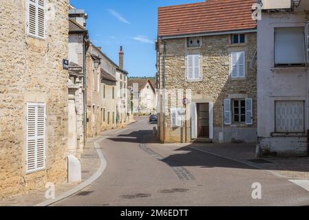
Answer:
M70 0L88 14L90 39L115 63L120 45L125 51L129 76L154 76L158 7L202 0Z

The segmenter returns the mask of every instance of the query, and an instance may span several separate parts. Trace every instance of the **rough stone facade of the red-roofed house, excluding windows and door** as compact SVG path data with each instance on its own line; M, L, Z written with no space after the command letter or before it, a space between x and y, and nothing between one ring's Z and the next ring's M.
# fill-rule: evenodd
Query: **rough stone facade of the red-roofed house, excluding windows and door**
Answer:
M257 127L257 81L256 66L251 68L250 64L256 52L256 33L246 34L246 43L233 45L231 44L231 34L217 36L201 37L202 46L198 48L188 48L187 39L165 39L166 57L163 58L164 46L161 41L158 45L160 56L158 57L158 66L160 68L160 88L166 89L191 89L191 100L204 100L204 102L214 103L214 136L218 137L218 129L222 127L222 104L226 98L253 98L253 125L232 124L224 126L225 129L239 128L240 130L248 128L250 140L255 140ZM246 52L246 78L231 78L231 52ZM186 79L187 76L187 54L200 54L202 80L191 82ZM165 77L164 72L165 70ZM165 78L165 79L164 79ZM182 100L182 98L181 98ZM180 100L180 103L181 103ZM191 113L191 103L187 105L187 113ZM171 101L168 100L167 108L171 107ZM178 105L182 107L182 104ZM165 141L166 142L184 142L185 129L171 128L169 113L165 115ZM191 122L187 122L187 142L191 140ZM160 131L163 131L160 129ZM216 132L217 131L217 132ZM238 131L236 131L238 132ZM214 138L215 138L214 137ZM231 137L228 137L231 140ZM215 140L216 141L216 140ZM246 140L245 140L246 141ZM249 140L248 140L249 142ZM251 141L250 141L251 142Z

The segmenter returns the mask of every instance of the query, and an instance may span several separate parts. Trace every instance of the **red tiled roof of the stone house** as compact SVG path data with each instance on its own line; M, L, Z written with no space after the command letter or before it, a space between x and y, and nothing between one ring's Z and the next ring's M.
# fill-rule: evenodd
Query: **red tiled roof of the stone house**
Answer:
M257 27L251 17L256 0L208 0L159 8L158 36L247 30Z

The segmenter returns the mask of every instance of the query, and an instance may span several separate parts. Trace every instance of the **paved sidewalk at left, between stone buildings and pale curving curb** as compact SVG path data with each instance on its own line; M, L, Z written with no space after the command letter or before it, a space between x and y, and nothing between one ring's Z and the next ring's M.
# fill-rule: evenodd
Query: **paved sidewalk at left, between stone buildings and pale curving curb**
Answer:
M100 157L94 147L94 142L100 140L104 135L100 135L95 138L89 138L83 154L81 155L81 170L82 170L82 181L85 182L87 179L92 177L97 170L100 168ZM72 190L74 187L80 184L69 184L64 182L58 184L55 187L55 196L63 195L63 193ZM0 200L0 206L35 206L36 204L45 202L45 192L47 189L31 190L27 195L18 195L11 199Z

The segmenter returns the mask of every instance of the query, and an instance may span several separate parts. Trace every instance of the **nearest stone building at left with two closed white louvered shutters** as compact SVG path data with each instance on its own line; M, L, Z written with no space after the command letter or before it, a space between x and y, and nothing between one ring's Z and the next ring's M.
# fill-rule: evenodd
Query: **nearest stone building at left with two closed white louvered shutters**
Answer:
M0 1L0 197L67 179L68 10Z

